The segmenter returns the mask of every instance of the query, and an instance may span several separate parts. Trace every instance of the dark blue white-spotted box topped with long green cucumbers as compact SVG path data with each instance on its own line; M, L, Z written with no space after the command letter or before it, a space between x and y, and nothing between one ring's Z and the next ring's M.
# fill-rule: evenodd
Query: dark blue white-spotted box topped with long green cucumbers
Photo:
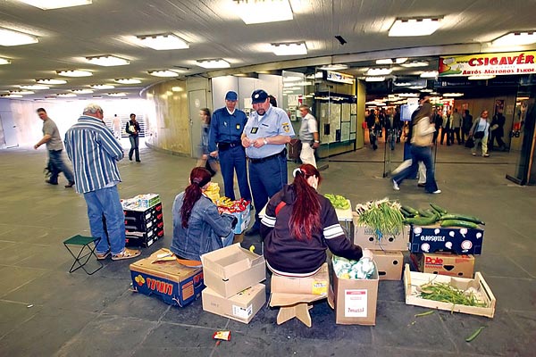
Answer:
M482 253L485 223L473 216L447 212L437 204L431 209L415 210L401 206L405 222L411 225L410 251L412 253L452 252L457 254Z

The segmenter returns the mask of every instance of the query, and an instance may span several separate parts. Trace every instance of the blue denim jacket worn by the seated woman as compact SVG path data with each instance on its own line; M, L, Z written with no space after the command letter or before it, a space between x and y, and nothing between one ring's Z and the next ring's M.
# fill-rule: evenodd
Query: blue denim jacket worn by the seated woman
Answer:
M200 261L200 255L223 247L222 237L232 234L230 214L218 212L218 207L210 198L202 195L194 204L188 228L182 227L180 208L184 192L175 197L173 202L173 240L171 250L182 258Z

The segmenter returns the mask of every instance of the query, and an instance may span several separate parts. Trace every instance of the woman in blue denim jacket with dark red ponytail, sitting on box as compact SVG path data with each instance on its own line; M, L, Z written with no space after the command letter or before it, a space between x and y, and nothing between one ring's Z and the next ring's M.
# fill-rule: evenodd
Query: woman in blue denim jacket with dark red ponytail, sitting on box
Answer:
M171 251L180 258L200 261L200 255L231 245L236 217L218 212L205 195L210 172L194 168L189 186L173 202L173 240Z

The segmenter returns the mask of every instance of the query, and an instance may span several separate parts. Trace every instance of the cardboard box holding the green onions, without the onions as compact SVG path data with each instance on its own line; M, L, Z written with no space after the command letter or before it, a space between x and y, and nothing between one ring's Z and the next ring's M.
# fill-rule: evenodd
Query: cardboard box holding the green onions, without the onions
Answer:
M373 228L360 227L357 223L357 216L354 216L354 244L367 249L406 251L409 245L409 227L404 226L402 232L398 234L384 232L382 237L378 238Z

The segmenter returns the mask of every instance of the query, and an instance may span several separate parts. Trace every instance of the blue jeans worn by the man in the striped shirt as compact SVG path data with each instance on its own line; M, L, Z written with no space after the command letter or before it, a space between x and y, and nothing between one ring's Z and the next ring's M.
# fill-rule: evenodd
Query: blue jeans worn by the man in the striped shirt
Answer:
M91 236L101 238L96 245L96 253L108 251L113 254L121 253L125 248L125 216L117 186L87 192L84 194L84 198L88 204ZM106 219L107 232L105 232L103 224L103 215Z

